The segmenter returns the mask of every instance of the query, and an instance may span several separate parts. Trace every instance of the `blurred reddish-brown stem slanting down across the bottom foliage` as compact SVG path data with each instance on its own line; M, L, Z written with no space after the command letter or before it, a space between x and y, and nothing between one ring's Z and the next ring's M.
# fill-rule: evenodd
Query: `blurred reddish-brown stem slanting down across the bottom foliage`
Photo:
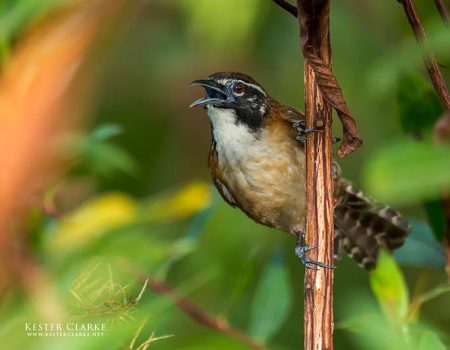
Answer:
M233 328L226 320L211 316L188 299L178 295L164 282L148 279L147 287L155 293L169 297L182 311L198 323L222 332L252 349L266 350L262 344L257 343L238 329Z

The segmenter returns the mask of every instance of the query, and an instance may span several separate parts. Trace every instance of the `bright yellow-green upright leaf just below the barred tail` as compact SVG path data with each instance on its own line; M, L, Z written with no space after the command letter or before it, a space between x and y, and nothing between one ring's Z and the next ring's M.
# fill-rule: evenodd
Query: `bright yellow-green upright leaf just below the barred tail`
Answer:
M394 258L385 251L380 252L377 268L370 272L370 286L386 316L396 323L405 322L408 289Z

